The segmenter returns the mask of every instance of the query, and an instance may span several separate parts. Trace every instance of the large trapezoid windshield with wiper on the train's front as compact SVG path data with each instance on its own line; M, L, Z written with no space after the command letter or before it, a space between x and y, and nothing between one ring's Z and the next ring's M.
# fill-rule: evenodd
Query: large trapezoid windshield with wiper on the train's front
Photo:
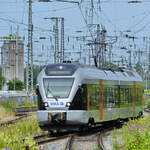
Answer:
M48 98L67 98L69 97L73 78L45 78L44 88Z

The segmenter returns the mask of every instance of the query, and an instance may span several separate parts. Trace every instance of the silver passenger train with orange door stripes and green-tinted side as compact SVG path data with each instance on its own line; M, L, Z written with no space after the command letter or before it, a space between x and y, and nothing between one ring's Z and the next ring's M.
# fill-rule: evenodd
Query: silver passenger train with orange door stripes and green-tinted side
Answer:
M36 93L38 123L47 131L94 126L143 114L142 78L124 68L49 64L38 76Z

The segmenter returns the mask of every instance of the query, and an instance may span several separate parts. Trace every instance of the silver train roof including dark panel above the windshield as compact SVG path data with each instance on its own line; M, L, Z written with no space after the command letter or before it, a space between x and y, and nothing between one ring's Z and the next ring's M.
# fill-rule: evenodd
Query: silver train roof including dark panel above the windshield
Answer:
M103 80L120 80L120 81L139 81L142 78L135 71L118 68L113 69L98 69L95 66L62 63L49 64L45 67L47 76L72 76L78 74L85 79L103 79Z

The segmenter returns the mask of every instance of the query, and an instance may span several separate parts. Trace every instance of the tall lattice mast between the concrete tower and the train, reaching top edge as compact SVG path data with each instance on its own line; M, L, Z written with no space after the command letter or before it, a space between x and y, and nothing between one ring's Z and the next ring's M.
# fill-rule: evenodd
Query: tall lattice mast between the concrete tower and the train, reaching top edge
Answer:
M33 24L32 24L32 0L29 0L28 12L28 60L26 67L26 91L33 91L33 46L32 46Z

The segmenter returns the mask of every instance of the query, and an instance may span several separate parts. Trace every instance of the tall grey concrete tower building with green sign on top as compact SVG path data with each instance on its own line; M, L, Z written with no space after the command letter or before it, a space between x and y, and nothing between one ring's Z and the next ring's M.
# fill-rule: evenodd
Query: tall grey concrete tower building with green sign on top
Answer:
M3 41L1 65L2 75L6 79L3 90L7 90L9 80L18 78L24 82L24 43L21 37L16 38L12 35L4 38Z

